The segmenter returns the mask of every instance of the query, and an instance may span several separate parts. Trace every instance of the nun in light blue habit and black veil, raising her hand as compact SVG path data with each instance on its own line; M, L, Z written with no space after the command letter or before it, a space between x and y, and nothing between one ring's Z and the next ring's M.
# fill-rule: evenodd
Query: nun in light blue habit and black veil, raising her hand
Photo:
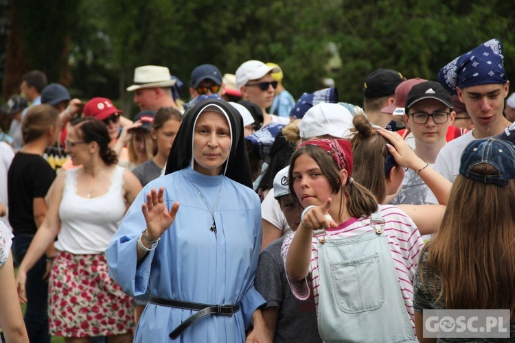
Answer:
M150 293L134 342L244 342L264 325L251 186L238 111L218 99L187 110L165 175L141 190L106 250L124 292Z

